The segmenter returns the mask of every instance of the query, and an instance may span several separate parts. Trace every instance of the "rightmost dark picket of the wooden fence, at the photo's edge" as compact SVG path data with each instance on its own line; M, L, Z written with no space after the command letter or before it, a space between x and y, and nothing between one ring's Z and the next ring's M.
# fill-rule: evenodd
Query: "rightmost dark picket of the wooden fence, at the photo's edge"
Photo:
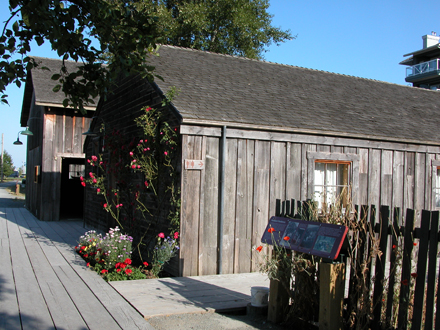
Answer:
M428 261L428 280L426 288L426 314L425 329L432 329L434 326L434 300L436 285L436 265L438 252L438 229L439 211L431 214L431 229L429 231L429 261Z

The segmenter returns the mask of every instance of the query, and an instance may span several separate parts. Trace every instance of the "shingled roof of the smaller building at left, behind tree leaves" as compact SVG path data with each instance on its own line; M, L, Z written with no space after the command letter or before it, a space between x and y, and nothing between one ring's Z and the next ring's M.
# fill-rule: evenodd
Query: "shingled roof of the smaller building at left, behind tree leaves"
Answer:
M27 117L29 116L29 111L32 104L33 93L35 93L35 104L37 105L63 107L63 100L66 98L62 91L53 91L57 81L51 79L52 75L55 73L60 73L62 60L35 56L32 58L35 59L38 66L28 70L28 75L26 77L23 106L21 110L22 126L26 126ZM65 63L68 72L76 72L77 67L82 65L82 63L77 63L74 61L65 61ZM48 68L49 70L43 69L44 67ZM97 103L98 98L95 99L95 104ZM85 108L87 110L94 110L96 106L92 105Z

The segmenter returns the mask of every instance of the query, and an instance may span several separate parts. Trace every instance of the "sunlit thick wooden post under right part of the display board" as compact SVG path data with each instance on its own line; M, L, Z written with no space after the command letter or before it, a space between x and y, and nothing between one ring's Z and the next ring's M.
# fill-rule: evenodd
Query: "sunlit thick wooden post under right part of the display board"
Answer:
M345 263L320 263L319 330L342 329Z

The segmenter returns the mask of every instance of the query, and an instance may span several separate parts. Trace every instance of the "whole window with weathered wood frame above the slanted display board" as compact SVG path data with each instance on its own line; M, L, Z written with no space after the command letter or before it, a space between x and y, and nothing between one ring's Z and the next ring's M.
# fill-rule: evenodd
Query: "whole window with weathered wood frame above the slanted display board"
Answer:
M336 202L343 207L358 203L359 159L357 154L307 152L308 198L319 210Z

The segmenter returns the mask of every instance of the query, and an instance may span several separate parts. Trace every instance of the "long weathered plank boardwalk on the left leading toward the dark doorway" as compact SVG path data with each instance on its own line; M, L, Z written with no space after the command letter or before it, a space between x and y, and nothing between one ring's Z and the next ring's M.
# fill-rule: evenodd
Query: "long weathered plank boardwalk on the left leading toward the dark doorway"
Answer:
M154 329L74 252L84 232L0 206L0 329Z

